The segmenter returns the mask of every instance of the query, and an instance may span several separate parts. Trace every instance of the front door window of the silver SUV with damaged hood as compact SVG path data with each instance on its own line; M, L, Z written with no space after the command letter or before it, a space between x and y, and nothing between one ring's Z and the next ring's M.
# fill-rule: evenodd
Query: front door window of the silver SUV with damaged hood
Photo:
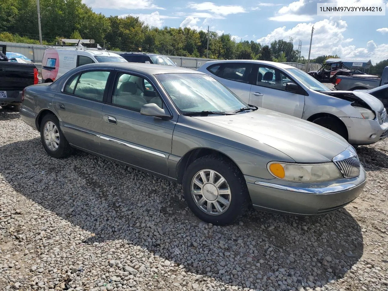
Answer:
M294 83L294 81L281 70L267 66L259 67L256 85L277 90L285 90L286 83Z

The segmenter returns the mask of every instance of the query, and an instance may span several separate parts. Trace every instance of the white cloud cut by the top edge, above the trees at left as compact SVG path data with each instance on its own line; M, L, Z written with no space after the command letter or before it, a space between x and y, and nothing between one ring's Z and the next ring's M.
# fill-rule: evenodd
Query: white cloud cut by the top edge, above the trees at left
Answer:
M92 8L109 9L165 9L154 4L153 0L83 0Z

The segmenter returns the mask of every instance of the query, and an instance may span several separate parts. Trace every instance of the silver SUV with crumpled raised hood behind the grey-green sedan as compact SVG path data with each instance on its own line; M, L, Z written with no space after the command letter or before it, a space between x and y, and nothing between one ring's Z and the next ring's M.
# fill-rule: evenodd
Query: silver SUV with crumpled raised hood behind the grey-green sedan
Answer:
M206 62L198 71L220 81L244 102L296 116L338 133L352 145L388 135L386 110L365 92L331 91L300 69L278 62Z

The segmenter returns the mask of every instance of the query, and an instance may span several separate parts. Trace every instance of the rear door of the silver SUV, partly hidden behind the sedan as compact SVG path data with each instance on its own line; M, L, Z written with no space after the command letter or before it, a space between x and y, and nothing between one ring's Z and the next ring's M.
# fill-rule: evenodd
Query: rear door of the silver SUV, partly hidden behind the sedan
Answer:
M249 78L251 77L252 68L253 65L249 62L225 62L221 65L210 66L207 70L215 79L248 103L251 91Z

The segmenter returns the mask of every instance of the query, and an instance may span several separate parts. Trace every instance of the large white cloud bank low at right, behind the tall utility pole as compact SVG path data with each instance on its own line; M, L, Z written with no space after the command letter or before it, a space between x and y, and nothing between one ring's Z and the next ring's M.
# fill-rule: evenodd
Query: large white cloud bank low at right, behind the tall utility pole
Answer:
M274 29L267 36L259 38L257 42L269 44L274 40L288 40L290 36L302 40L302 55L307 57L310 43L311 28L314 24L311 57L319 55L339 55L343 58L371 59L372 63L382 61L388 55L388 43L379 44L370 40L362 47L349 45L352 38L346 38L343 33L348 28L346 21L341 19L324 19L315 23L298 23L296 26L286 29L286 26ZM330 40L330 41L328 41Z

